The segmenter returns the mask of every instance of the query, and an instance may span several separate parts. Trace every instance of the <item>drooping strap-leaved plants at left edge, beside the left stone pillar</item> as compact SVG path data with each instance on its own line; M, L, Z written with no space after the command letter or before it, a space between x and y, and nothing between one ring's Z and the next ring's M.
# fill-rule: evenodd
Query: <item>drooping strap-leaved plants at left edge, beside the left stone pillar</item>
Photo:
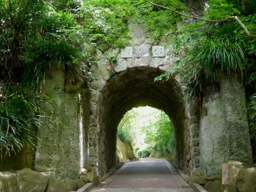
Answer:
M35 145L39 95L20 84L0 85L1 157L19 152L24 145Z

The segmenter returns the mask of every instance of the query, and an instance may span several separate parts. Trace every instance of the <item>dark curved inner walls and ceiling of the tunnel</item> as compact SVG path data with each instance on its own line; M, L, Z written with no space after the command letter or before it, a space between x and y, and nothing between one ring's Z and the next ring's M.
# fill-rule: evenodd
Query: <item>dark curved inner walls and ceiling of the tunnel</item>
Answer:
M173 122L177 166L186 165L188 143L185 139L185 102L178 81L165 83L154 78L163 71L153 67L133 67L115 74L101 90L99 104L99 174L104 175L116 164L116 131L124 114L138 106L161 109Z

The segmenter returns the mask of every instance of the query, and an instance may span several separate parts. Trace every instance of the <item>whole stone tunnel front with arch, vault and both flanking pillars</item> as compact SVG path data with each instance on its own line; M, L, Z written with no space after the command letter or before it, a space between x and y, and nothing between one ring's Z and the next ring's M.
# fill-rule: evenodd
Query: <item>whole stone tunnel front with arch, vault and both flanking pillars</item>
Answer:
M45 110L38 129L35 169L56 177L77 178L84 164L104 176L116 164L116 131L129 109L162 109L175 129L177 167L184 172L202 169L220 175L221 163L252 163L244 88L236 79L222 79L207 88L202 106L184 99L184 87L170 54L172 46L154 45L143 24L129 22L131 45L125 49L97 51L92 81L78 88L65 74L52 69L42 92L52 108ZM116 58L116 63L110 63ZM113 67L113 70L109 70ZM154 82L172 72L164 83Z

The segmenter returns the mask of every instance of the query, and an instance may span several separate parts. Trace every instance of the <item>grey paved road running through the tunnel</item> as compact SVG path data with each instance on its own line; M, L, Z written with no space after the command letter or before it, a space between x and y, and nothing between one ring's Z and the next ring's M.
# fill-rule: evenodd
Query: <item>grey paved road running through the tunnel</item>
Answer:
M93 192L193 192L165 159L141 159L125 163Z

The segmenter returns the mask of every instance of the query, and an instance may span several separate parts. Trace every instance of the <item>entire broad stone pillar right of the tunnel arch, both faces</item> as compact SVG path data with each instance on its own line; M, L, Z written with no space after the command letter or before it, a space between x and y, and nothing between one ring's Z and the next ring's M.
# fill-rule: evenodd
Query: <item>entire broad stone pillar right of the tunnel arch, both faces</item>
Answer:
M209 175L221 175L228 160L252 163L243 84L222 79L207 87L200 118L200 157Z

